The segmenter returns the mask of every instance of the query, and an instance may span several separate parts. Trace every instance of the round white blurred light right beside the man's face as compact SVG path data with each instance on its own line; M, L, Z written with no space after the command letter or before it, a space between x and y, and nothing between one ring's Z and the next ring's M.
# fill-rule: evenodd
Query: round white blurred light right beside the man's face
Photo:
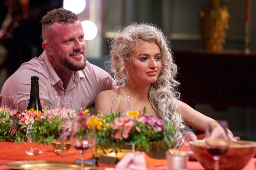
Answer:
M81 24L85 32L85 40L93 40L98 32L97 26L89 20L82 21Z

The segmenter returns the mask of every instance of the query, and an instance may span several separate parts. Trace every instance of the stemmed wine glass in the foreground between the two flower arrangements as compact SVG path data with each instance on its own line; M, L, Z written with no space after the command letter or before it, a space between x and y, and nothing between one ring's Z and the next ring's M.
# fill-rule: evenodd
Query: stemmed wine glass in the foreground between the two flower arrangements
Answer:
M74 148L79 149L81 153L81 167L83 169L83 153L95 146L95 128L93 119L84 113L78 113L74 118L72 131L70 134L70 143Z

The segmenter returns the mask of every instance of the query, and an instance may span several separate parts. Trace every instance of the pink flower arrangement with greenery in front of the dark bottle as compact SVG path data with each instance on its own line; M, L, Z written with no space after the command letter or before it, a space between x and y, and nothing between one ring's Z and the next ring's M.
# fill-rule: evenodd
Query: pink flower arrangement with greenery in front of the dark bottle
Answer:
M49 144L56 137L66 140L75 114L66 108L45 109L44 113L33 109L16 112L0 108L0 141L19 142L22 138L30 138L37 143Z

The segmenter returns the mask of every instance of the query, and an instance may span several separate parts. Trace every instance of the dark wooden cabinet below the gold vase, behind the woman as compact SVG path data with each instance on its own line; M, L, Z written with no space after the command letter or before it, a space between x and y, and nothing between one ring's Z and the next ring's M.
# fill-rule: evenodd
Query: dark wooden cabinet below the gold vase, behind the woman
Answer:
M256 106L256 52L174 51L182 101L215 109Z

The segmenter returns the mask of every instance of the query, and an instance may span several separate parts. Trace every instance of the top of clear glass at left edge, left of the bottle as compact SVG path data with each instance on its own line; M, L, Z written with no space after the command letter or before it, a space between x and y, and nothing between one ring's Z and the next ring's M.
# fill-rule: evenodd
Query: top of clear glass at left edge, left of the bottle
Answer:
M10 109L10 111L18 111L17 100L14 96L0 96L0 106Z

